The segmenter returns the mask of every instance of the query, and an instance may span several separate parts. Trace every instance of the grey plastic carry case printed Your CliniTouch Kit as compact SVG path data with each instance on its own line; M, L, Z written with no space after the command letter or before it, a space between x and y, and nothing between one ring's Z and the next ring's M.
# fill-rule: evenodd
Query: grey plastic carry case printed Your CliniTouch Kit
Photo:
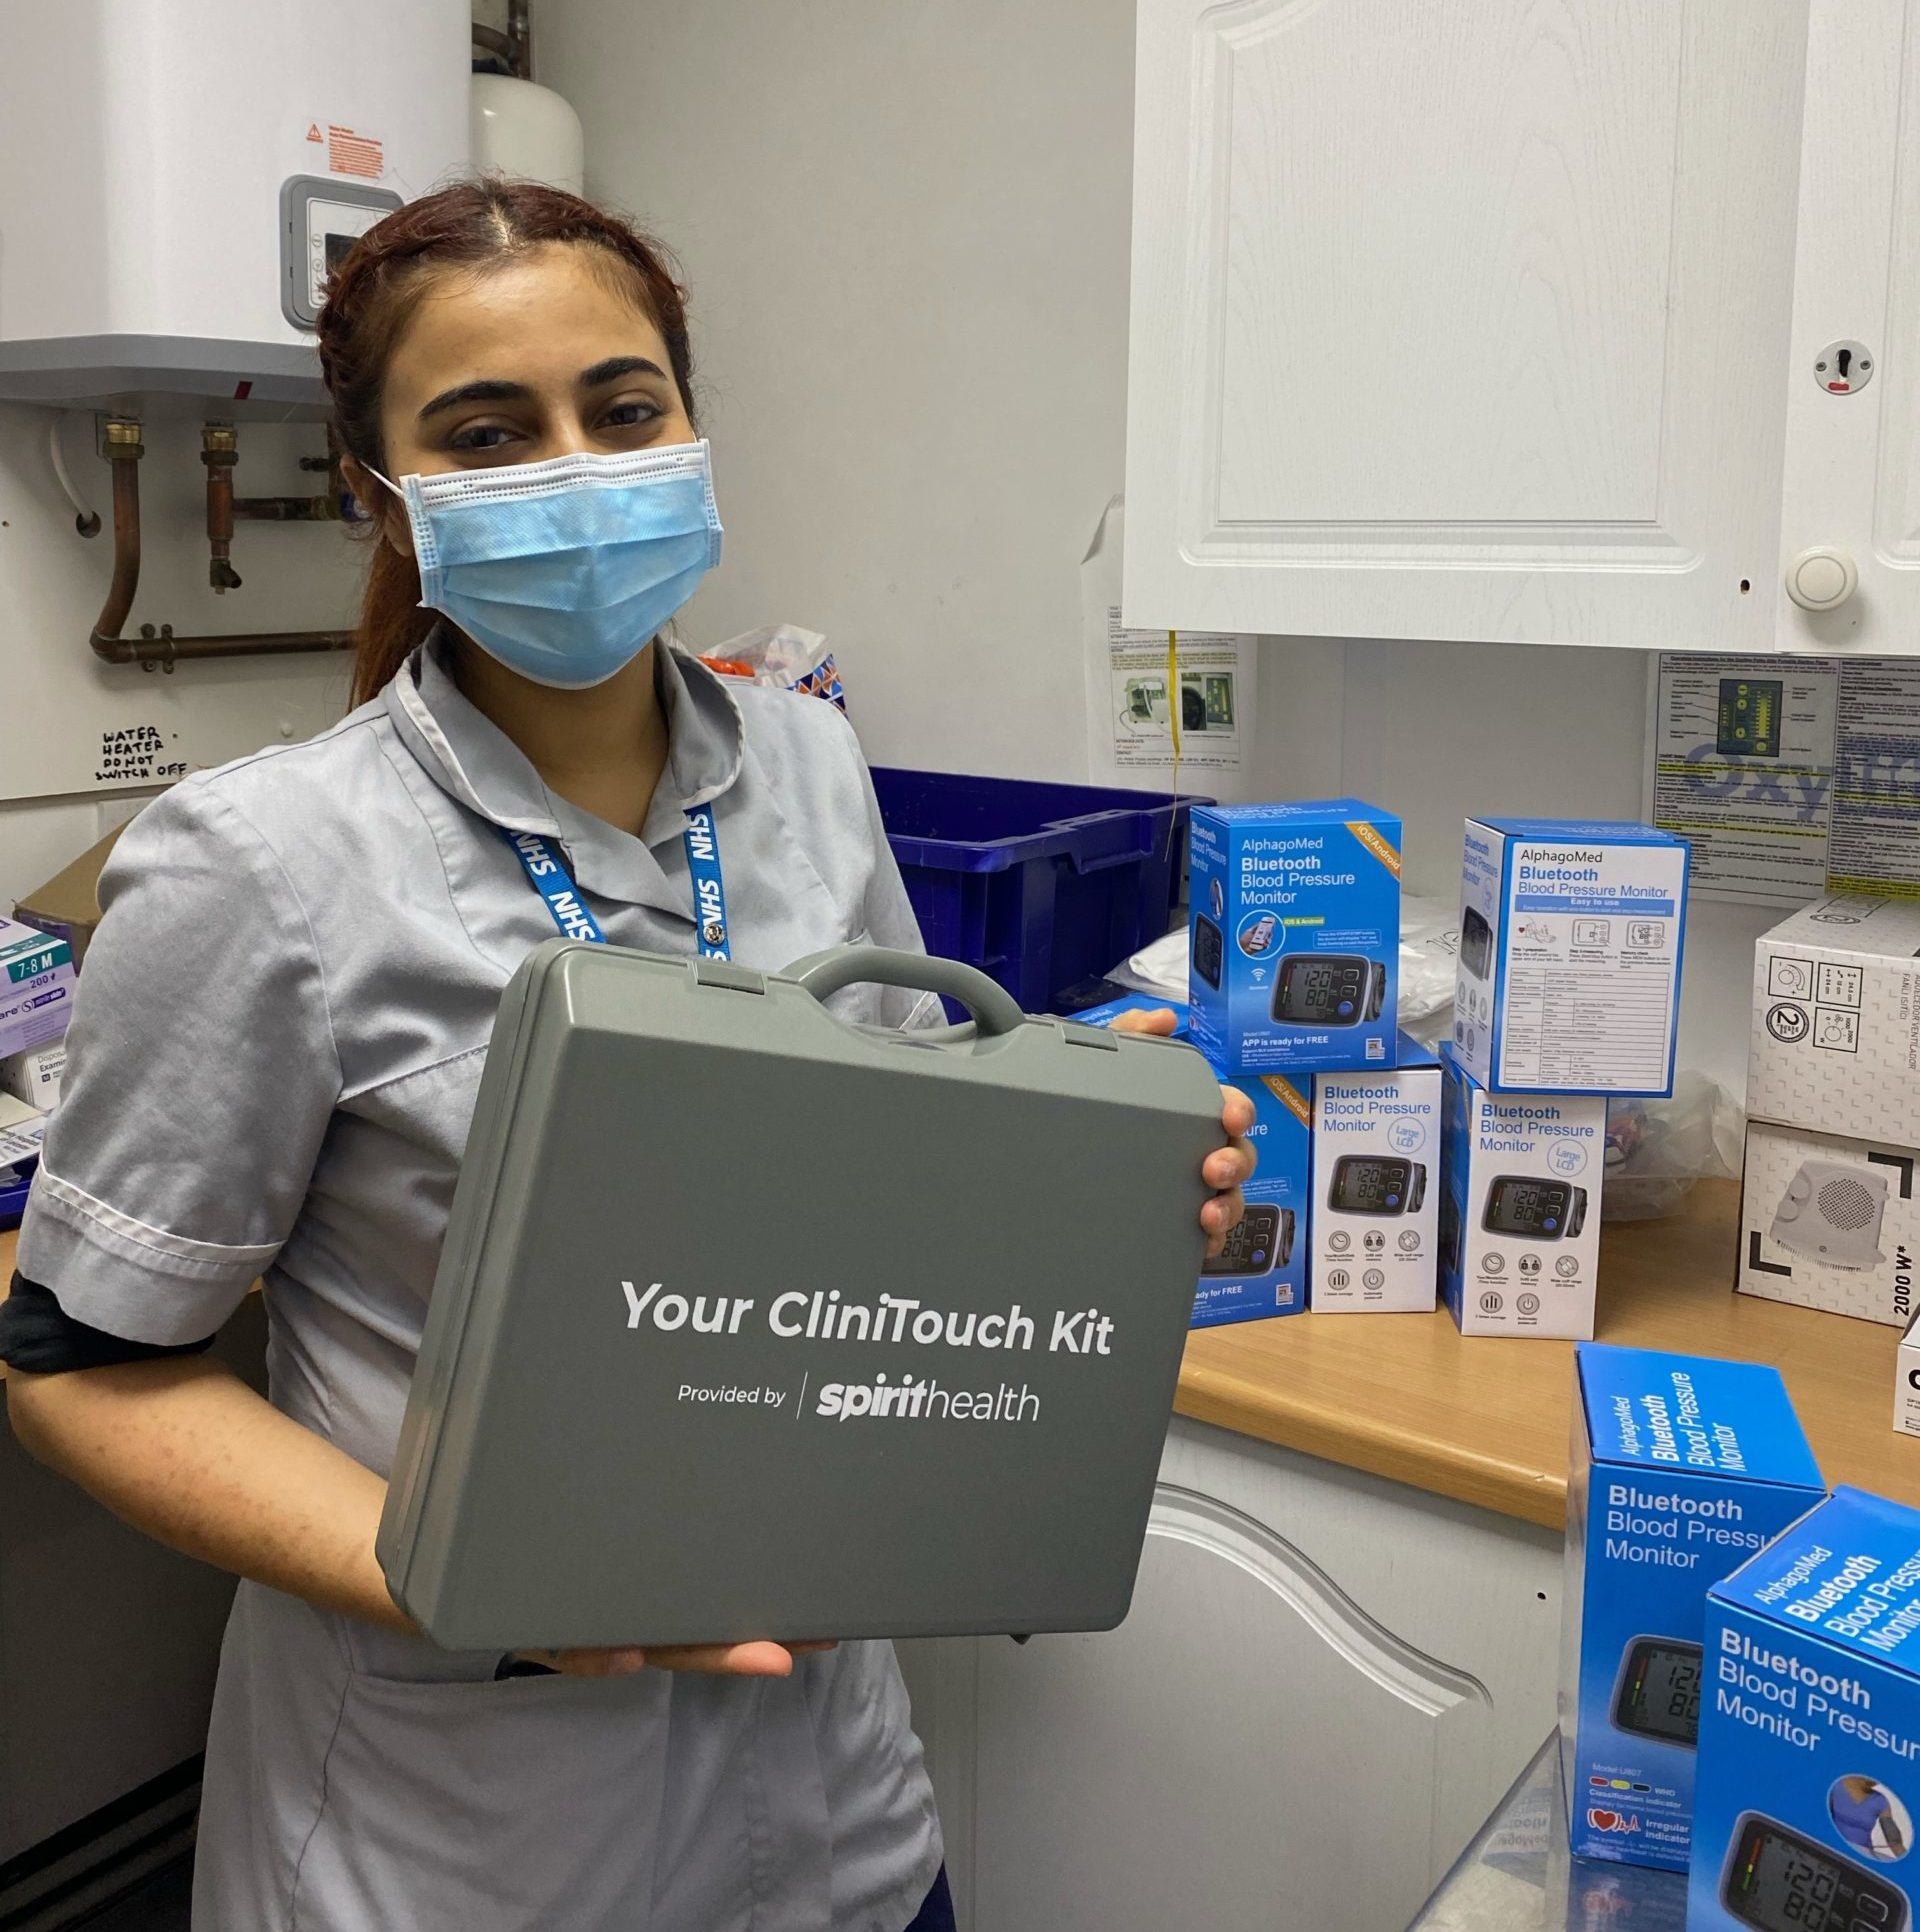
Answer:
M974 1024L850 1026L863 980ZM454 1192L394 1600L450 1648L1111 1629L1219 1144L1198 1053L948 960L549 941Z

